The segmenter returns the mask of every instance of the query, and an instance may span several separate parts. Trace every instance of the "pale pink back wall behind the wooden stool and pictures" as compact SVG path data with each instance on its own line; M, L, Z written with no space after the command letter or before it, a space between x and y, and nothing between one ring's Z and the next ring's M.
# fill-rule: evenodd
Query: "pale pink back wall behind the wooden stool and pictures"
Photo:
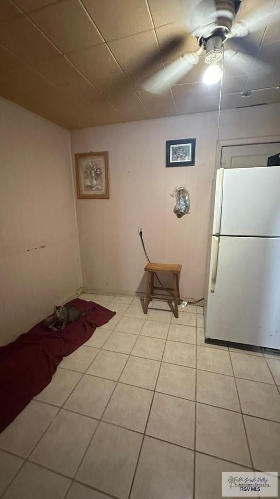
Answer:
M220 139L280 133L280 105L223 111ZM86 128L71 133L75 153L109 151L110 200L77 200L83 285L96 292L143 291L146 263L181 263L181 295L203 296L216 112ZM196 137L196 165L165 168L165 141ZM238 143L238 140L237 140ZM190 215L177 219L169 193L183 183Z

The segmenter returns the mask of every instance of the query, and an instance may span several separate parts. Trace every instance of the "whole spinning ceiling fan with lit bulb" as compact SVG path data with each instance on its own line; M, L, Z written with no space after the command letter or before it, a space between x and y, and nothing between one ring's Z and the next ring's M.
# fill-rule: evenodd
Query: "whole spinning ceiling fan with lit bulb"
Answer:
M142 84L143 90L154 94L164 93L171 85L177 83L198 62L199 56L205 52L205 63L208 66L203 81L206 84L217 83L222 78L220 61L223 46L228 39L233 39L233 48L225 47L224 57L237 69L247 68L248 64L258 64L260 69L268 68L264 60L256 59L249 53L256 54L258 46L245 37L266 25L273 12L271 21L280 20L280 8L266 6L257 9L243 19L236 20L241 0L193 0L180 1L184 9L181 17L187 16L186 31L197 38L198 49L195 52L183 53L165 68L148 77ZM241 38L241 39L239 39ZM170 44L169 44L170 45ZM249 52L249 53L247 53ZM163 54L164 55L164 47Z

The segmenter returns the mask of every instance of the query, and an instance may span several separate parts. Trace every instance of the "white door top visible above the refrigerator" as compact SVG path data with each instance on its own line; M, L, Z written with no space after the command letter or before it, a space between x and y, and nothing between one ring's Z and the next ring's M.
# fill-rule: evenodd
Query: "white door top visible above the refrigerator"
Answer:
M280 154L280 142L223 146L221 167L249 168L267 166L268 158L275 154Z

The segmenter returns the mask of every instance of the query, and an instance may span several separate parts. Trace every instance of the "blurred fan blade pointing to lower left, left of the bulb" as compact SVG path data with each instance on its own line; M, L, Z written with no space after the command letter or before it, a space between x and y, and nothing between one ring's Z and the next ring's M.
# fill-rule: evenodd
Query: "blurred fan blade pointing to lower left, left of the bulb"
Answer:
M201 47L196 52L189 52L175 59L168 66L160 69L160 71L145 80L141 85L142 89L154 94L164 93L199 62L199 55L202 51L203 48Z

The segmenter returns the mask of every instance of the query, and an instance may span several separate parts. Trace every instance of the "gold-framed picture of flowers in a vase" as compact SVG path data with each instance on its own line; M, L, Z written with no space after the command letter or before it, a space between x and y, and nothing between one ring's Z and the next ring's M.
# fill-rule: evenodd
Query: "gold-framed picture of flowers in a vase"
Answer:
M79 199L109 199L108 152L75 154Z

